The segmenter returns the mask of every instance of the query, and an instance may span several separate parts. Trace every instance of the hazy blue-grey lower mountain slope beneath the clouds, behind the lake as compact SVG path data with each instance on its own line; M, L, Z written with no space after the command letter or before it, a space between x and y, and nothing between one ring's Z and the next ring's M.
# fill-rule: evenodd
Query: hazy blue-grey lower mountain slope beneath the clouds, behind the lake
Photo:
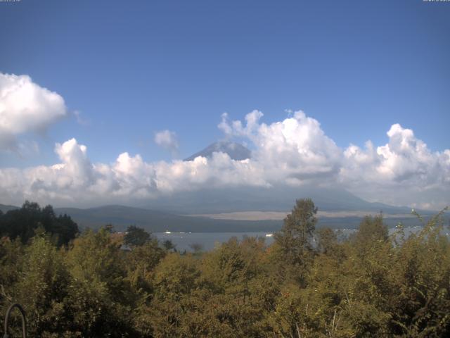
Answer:
M296 199L311 198L321 211L383 211L410 213L411 208L371 203L345 189L325 187L229 187L178 192L142 204L142 208L178 214L234 211L290 211Z

